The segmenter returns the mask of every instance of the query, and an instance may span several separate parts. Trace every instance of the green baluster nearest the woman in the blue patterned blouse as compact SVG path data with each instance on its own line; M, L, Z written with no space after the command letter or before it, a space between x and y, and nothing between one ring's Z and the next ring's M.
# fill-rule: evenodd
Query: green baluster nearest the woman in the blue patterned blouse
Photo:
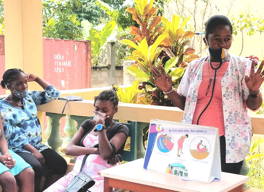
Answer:
M48 113L46 115L49 116L52 120L51 122L51 132L50 137L48 138L48 145L56 151L61 156L65 156L60 150L59 147L62 145L62 138L60 135L60 118L65 116L65 114L58 114L58 113Z

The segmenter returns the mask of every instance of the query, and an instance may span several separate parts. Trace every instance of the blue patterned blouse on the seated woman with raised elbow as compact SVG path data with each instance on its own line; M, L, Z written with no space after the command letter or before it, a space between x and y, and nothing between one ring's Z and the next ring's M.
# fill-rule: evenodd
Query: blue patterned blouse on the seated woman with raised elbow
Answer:
M45 91L28 91L23 98L24 109L11 106L6 100L0 100L0 110L4 126L4 134L8 148L13 152L28 152L24 145L30 144L39 151L47 149L41 138L41 126L38 119L37 106L60 96L60 91L52 85Z

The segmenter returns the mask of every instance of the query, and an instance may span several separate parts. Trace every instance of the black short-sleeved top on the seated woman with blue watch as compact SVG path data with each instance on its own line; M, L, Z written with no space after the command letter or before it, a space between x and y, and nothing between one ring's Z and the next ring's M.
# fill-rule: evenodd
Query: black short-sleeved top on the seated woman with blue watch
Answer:
M95 129L95 126L92 124L92 121L87 119L82 124L80 125L84 129L84 135L80 141L80 146L84 147L83 145L83 140L86 137L86 135L93 131ZM111 125L109 129L106 130L106 136L108 140L110 141L116 133L125 133L126 134L126 139L128 137L128 128L126 125L123 125L121 123L115 122ZM122 154L123 149L125 147L126 141L123 143L123 145L120 147L120 149L116 152L116 154Z

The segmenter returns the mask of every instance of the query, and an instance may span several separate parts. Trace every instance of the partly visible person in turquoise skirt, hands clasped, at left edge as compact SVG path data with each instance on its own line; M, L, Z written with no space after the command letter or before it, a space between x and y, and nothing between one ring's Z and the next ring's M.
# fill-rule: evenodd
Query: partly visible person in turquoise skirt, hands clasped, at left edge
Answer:
M0 185L3 192L34 191L34 171L18 154L8 150L0 113Z

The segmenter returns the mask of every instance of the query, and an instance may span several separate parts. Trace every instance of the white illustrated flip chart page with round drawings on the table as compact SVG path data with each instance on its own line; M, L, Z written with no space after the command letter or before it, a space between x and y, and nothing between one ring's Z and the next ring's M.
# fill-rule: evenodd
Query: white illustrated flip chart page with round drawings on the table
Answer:
M216 128L151 120L144 169L209 182Z

